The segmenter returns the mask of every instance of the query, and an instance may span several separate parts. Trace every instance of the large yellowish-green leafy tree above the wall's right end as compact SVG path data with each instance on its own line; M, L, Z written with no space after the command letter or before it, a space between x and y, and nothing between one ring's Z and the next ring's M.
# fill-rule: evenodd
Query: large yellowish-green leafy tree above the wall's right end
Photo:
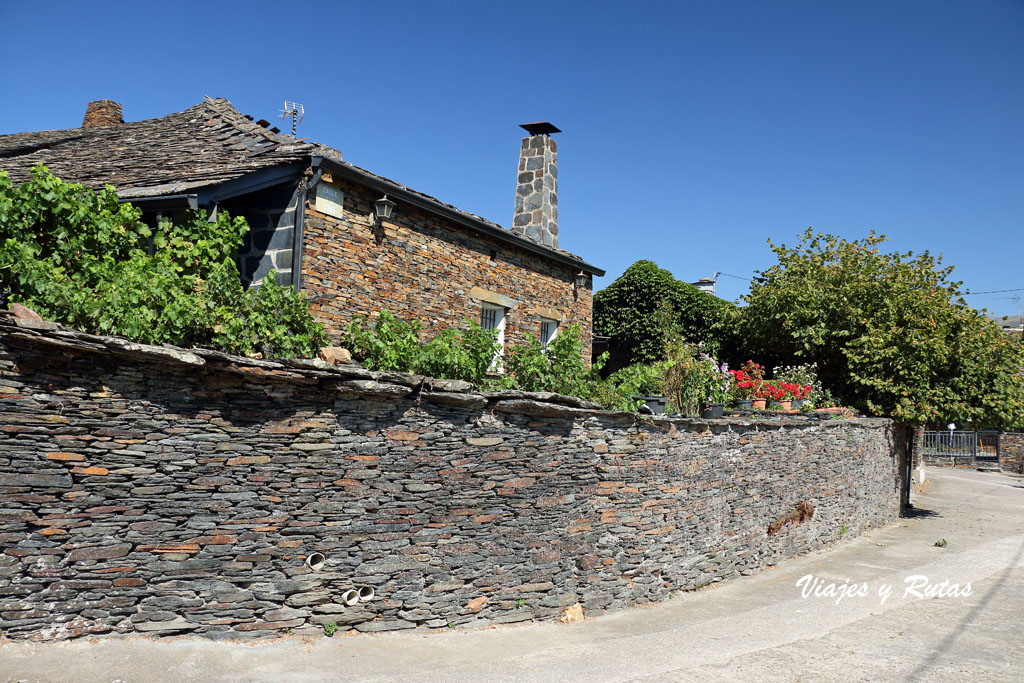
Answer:
M1024 423L1024 348L970 308L952 266L810 228L755 279L740 329L761 357L817 362L847 404L925 422Z

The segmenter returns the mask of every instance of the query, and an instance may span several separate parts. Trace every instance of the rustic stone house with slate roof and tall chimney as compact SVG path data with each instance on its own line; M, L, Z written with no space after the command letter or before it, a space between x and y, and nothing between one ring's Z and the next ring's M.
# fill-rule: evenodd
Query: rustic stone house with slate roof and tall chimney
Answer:
M188 209L245 216L243 280L274 270L333 340L381 309L428 334L479 321L506 347L580 323L589 359L592 279L604 270L558 248L558 129L523 127L511 229L209 97L129 123L117 102L90 102L81 128L0 135L0 169L15 183L44 164L70 182L114 185L154 224Z

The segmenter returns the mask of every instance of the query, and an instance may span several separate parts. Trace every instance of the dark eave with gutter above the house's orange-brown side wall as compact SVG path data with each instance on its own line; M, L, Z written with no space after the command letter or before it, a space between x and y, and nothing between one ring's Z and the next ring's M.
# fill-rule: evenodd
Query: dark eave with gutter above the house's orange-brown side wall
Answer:
M429 211L430 213L437 214L443 218L446 218L447 220L451 220L452 222L458 223L464 227L468 227L471 230L475 230L476 232L482 232L483 234L493 237L497 240L500 240L501 242L514 245L516 247L519 247L520 249L524 249L525 251L539 254L541 256L552 259L554 261L558 261L560 263L564 263L566 265L571 265L572 267L580 268L581 270L597 275L598 278L604 275L605 271L602 268L587 263L583 259L573 258L571 256L568 256L567 254L563 254L553 249L549 249L548 247L545 247L543 245L539 245L536 242L532 242L531 240L519 237L515 232L511 232L503 227L493 225L483 220L475 219L472 216L462 213L461 211L458 211L451 207L446 207L439 202L434 202L425 197L412 193L409 189L402 187L401 185L388 182L387 180L384 180L380 177L374 176L369 173L364 173L357 168L354 168L344 163L339 163L329 157L314 156L312 158L312 165L313 167L324 167L330 170L332 173L337 173L341 177L347 178L349 180L354 180L359 182L360 184L373 187L374 189L378 189L384 194L400 199L402 202L419 207L424 211Z

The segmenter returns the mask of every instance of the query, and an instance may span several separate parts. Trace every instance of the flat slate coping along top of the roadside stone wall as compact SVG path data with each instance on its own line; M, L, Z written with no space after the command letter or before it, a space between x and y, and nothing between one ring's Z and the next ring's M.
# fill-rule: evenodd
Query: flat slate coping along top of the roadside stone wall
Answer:
M110 354L132 360L155 364L191 372L228 372L242 374L253 381L323 384L328 390L342 394L376 397L418 397L456 405L489 404L495 411L549 418L602 419L649 424L666 429L686 431L722 430L723 428L782 429L823 425L852 425L873 428L888 425L889 418L827 419L815 415L778 415L764 417L722 417L714 419L637 415L606 411L599 403L547 391L476 391L472 384L411 373L375 372L357 362L329 366L308 358L252 358L210 348L181 348L170 344L139 344L121 337L92 335L65 328L49 321L14 316L0 310L0 336L14 345L43 346L56 353ZM445 396L447 394L447 396Z

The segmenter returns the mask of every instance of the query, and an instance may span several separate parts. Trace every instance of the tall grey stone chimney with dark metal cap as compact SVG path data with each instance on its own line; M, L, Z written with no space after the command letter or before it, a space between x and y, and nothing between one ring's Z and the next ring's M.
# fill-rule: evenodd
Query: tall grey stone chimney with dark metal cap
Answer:
M512 231L558 249L558 145L551 135L561 131L547 122L520 127L529 137L519 150Z

